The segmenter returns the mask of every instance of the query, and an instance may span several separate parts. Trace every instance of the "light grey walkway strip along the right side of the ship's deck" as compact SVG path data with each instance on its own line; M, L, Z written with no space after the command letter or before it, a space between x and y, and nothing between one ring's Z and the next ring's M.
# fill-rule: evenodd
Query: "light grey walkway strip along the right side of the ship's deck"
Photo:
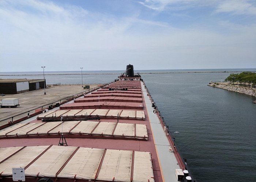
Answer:
M142 84L143 96L146 103L148 118L154 137L154 143L158 154L158 160L161 167L163 181L176 182L178 181L175 175L175 169L180 169L178 162L174 156L174 153L169 152L170 143L163 131L162 125L158 116L153 112L151 107L152 102L147 96L147 91Z

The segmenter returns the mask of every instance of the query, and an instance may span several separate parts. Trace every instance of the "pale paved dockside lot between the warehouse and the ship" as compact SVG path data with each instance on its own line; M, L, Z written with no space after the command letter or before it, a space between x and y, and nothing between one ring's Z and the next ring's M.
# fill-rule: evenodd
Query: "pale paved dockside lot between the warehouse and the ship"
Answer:
M90 85L90 88L97 87L97 85ZM64 99L68 96L78 94L86 91L82 86L54 86L46 88L46 95L44 89L24 92L20 94L8 94L0 96L1 99L18 98L20 106L15 108L0 108L0 120L17 115L19 113L27 112L35 107L40 107L48 103L54 103L57 100Z

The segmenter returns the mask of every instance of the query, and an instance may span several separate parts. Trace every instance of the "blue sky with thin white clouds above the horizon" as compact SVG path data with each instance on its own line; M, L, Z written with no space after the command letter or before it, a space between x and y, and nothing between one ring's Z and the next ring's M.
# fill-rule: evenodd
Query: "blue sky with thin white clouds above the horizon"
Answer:
M0 0L0 72L256 68L255 0Z

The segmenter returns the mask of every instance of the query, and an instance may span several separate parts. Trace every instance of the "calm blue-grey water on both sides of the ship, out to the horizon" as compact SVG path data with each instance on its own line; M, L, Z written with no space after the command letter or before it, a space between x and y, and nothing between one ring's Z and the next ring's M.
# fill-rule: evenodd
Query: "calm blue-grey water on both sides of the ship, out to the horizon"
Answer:
M143 70L139 72L199 72L229 70ZM106 83L122 71L92 71L110 75L83 75L83 83ZM136 72L136 71L135 71ZM49 74L50 72L45 72ZM51 72L50 74L67 72ZM79 72L69 72L79 74ZM87 72L88 73L88 72ZM10 73L0 73L7 75ZM17 73L11 73L17 74ZM21 74L21 73L20 73ZM31 74L24 73L23 74ZM41 72L33 72L41 74ZM256 181L256 100L207 86L210 79L221 81L230 73L142 74L150 93L164 116L176 145L187 159L199 182ZM42 79L34 76L0 78ZM81 75L46 75L46 84L81 83Z

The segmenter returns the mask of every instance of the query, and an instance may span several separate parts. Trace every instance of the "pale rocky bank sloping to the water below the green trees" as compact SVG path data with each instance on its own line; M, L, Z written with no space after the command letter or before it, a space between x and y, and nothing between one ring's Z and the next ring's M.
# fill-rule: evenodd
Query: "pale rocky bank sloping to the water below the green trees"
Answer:
M211 82L208 84L208 86L221 88L224 90L229 90L233 92L238 92L241 94L251 95L256 97L256 89L255 88L246 88L246 87L240 87L237 85L231 85L227 83L218 83L218 82Z

